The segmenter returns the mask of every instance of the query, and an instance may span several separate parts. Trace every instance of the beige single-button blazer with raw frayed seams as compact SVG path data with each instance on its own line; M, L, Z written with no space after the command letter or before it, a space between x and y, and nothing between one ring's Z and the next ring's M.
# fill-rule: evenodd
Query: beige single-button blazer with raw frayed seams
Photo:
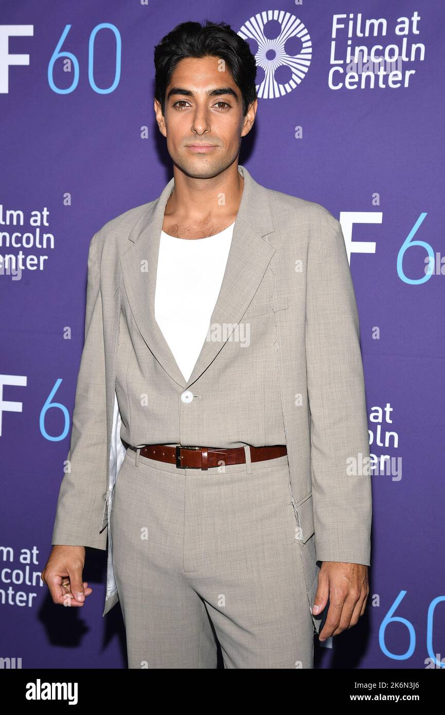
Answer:
M52 543L106 549L108 536L104 614L119 598L107 525L122 439L285 443L300 541L315 533L317 561L370 565L368 420L341 225L320 204L238 170L243 196L210 321L229 329L205 340L187 383L155 321L157 252L174 179L89 245L84 349ZM250 327L244 350L230 339L242 324ZM193 407L181 400L185 390L199 396Z

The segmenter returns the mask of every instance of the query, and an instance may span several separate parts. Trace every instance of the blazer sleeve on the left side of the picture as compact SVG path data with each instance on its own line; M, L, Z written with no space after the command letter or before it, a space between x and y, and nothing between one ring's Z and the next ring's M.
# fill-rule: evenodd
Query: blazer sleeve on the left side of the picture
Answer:
M106 550L107 529L99 533L107 491L107 409L96 236L94 234L89 245L84 347L74 400L71 443L59 490L52 544Z

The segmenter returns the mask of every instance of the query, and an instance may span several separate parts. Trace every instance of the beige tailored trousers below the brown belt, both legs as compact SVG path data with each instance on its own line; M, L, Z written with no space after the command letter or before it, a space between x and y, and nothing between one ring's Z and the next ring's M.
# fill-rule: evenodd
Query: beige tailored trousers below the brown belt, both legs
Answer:
M314 537L287 455L245 453L205 471L127 450L109 528L129 668L215 669L217 641L225 668L313 668Z

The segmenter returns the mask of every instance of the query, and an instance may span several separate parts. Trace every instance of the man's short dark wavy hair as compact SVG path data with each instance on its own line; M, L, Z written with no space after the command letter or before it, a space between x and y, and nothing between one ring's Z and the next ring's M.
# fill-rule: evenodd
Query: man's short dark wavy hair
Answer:
M155 46L155 99L165 110L165 92L175 66L186 57L220 57L243 96L243 116L257 97L256 64L248 42L225 22L182 22Z

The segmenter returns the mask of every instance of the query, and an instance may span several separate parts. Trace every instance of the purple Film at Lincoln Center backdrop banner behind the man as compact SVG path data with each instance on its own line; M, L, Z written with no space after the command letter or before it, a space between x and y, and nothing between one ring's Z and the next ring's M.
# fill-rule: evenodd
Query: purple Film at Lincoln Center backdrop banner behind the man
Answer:
M356 627L316 643L315 666L443 667L440 0L0 2L0 662L126 667L120 606L102 618L106 553L87 549L82 608L55 606L40 573L69 450L89 242L172 177L153 48L205 19L228 22L258 65L240 163L338 218L356 290L371 593Z

